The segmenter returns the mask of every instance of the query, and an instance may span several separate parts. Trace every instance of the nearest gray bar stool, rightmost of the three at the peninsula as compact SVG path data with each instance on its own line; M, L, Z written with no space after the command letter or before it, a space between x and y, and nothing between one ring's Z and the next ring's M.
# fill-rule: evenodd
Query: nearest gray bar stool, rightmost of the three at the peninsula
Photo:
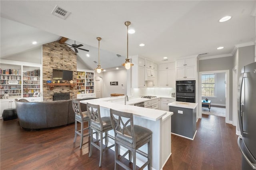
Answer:
M136 170L136 152L148 158L148 160L140 167L140 169L148 166L148 170L152 167L152 131L133 124L133 114L125 113L110 109L110 119L115 132L115 170L118 165L123 168L130 169L123 164L121 160L129 153L129 162L133 157L133 170ZM148 144L148 153L138 150L144 144ZM123 146L128 149L120 158L118 158L118 148ZM132 155L131 155L132 152Z

